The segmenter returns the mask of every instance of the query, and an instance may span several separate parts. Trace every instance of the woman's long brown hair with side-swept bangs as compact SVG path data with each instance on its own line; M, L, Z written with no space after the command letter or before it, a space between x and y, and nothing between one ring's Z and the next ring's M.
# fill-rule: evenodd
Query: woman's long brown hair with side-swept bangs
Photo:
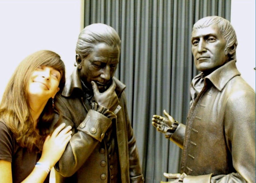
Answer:
M0 104L0 118L14 134L17 143L30 151L41 151L54 117L52 98L44 107L35 124L31 118L27 87L32 72L39 66L53 67L61 73L60 91L65 84L65 65L60 56L49 50L41 50L26 57L12 75ZM59 91L59 92L60 92Z

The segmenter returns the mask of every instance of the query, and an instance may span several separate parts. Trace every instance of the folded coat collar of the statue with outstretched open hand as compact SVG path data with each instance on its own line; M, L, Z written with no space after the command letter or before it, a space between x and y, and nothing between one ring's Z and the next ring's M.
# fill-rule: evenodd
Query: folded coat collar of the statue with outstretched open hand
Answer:
M241 74L236 68L235 60L231 60L206 76L204 83L206 84L206 79L209 79L219 91L222 91L229 80L239 75Z

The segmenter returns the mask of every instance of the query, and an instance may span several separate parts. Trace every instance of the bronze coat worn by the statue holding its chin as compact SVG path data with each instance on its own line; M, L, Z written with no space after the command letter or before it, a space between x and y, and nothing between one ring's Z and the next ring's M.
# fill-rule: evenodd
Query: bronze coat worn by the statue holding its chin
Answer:
M127 114L125 85L116 78L113 80L121 106L116 120L120 177L125 183L143 182L136 141ZM56 182L107 182L107 177L111 176L108 175L109 165L101 165L102 161L108 161L107 150L106 146L102 150L100 144L112 121L84 103L81 90L76 69L67 80L62 95L56 96L55 106L63 113L62 122L71 125L73 131L64 154L55 165Z

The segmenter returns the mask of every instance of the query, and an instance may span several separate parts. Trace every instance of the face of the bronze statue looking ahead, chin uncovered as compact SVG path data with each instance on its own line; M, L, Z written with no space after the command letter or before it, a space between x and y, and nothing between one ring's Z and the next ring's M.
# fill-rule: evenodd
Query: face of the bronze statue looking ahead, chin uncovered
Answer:
M191 43L197 70L211 73L228 62L228 56L225 55L226 40L217 25L194 30Z

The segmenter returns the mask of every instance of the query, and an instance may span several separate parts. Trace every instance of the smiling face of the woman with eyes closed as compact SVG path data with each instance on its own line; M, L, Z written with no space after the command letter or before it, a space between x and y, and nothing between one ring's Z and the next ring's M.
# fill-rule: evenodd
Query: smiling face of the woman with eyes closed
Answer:
M34 70L28 81L28 95L41 97L42 100L54 98L59 91L61 74L53 67L39 66Z

